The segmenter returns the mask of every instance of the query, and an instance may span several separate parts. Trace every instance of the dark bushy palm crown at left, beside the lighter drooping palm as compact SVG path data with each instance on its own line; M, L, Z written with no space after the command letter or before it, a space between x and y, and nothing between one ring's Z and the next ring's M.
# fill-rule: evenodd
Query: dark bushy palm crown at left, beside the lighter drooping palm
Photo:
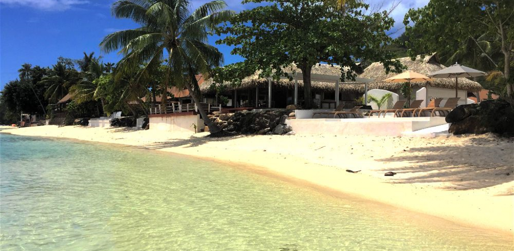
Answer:
M66 69L66 66L57 63L53 65L52 75L44 77L39 83L49 85L44 94L45 98L50 102L57 102L67 94L68 88L80 79L76 70Z

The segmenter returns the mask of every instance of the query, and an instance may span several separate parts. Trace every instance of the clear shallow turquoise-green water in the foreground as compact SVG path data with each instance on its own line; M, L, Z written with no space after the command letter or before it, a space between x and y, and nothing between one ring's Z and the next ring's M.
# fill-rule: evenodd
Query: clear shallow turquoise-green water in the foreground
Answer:
M487 231L204 160L6 134L0 147L2 251L512 250Z

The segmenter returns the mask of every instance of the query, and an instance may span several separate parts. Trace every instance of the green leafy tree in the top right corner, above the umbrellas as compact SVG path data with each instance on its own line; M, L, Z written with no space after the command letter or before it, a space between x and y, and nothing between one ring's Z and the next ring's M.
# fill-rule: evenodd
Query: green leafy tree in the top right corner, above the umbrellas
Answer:
M409 56L437 52L454 55L472 42L484 58L502 71L507 96L512 97L512 53L514 53L514 1L512 0L431 0L423 8L410 9L403 23L410 40ZM480 39L480 38L486 38ZM498 44L490 46L491 43ZM469 47L468 47L469 48ZM495 51L490 51L494 49ZM488 51L489 50L489 51ZM503 59L491 57L501 53ZM469 56L469 55L468 55ZM469 60L469 57L468 57Z

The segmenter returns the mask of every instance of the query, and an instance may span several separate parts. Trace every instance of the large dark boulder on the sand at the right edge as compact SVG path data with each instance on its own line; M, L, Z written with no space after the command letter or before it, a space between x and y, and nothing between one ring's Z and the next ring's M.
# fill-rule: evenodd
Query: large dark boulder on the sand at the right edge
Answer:
M452 134L514 134L514 108L505 100L457 106L446 117Z

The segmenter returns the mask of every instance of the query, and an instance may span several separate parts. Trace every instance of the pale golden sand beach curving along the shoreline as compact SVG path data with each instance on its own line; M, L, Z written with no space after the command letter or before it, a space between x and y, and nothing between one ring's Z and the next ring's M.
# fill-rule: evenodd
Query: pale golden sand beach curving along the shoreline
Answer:
M228 163L512 236L514 139L292 135L205 137L129 128L42 126L3 133L122 144ZM357 173L346 170L359 171ZM384 176L386 172L394 176Z

